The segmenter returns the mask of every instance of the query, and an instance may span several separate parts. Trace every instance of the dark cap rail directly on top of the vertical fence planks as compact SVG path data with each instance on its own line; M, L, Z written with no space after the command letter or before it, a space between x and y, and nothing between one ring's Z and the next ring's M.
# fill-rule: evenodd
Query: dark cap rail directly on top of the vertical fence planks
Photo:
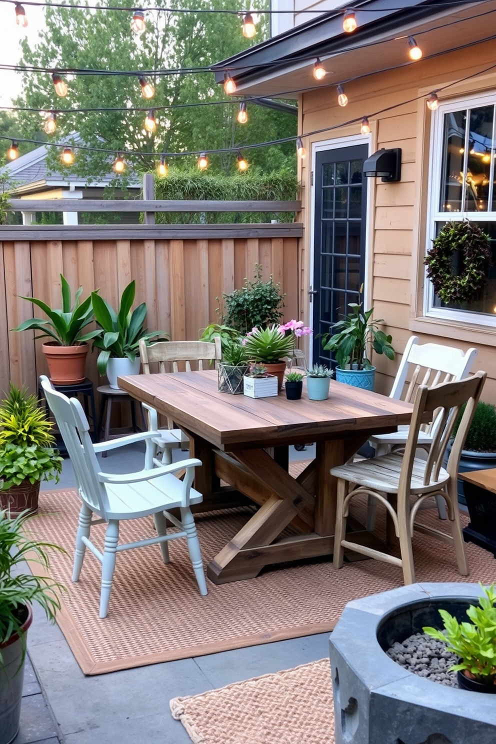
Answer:
M302 237L302 222L252 225L0 225L1 240L200 240Z

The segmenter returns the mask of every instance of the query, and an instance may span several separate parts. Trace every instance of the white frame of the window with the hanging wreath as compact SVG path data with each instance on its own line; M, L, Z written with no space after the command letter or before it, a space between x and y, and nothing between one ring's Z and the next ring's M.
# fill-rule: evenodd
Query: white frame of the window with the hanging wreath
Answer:
M441 103L439 108L434 112L431 126L431 170L429 173L429 190L428 190L428 216L427 216L427 243L425 246L426 254L428 248L432 245L432 240L436 237L437 222L458 222L460 219L470 219L474 222L495 222L496 211L490 212L442 212L439 211L441 196L441 179L442 174L442 156L443 156L443 136L444 136L444 117L445 114L460 111L461 109L474 109L481 106L494 106L496 103L496 92L484 95L474 95L470 97L457 98L447 103ZM493 122L493 129L496 126ZM467 128L468 132L468 128ZM493 135L494 136L494 135ZM491 162L491 180L494 177L495 158ZM495 188L496 190L496 188ZM464 310L453 310L446 307L434 307L434 288L431 280L425 274L424 282L424 315L426 318L437 318L442 321L451 321L460 324L475 324L485 327L496 328L496 313L466 312ZM496 298L495 298L496 304Z

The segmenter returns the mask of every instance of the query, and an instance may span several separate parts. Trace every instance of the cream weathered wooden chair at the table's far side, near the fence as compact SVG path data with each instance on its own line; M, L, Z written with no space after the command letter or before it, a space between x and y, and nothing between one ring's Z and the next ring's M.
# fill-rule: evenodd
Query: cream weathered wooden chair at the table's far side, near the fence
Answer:
M218 362L222 359L221 341L218 337L210 341L158 341L146 346L140 341L140 357L144 374L150 374L150 365L155 363L159 373L178 372L178 362L184 362L187 372L190 372L191 362L195 362L196 369L202 370L204 362ZM174 429L172 419L167 419L167 429L158 429L158 415L155 408L146 403L143 407L147 411L149 429L159 432L154 442L161 451L161 457L155 458L155 464L170 465L173 461L173 449L188 449L188 438L181 429Z

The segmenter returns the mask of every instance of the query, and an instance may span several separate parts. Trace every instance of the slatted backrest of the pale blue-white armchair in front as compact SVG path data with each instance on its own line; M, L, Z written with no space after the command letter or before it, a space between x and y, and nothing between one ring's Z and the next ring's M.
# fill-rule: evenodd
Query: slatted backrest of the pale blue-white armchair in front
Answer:
M77 398L68 398L56 391L45 375L41 375L39 379L71 458L80 497L106 519L109 501L105 487L97 478L101 468L88 434L89 424L83 406Z

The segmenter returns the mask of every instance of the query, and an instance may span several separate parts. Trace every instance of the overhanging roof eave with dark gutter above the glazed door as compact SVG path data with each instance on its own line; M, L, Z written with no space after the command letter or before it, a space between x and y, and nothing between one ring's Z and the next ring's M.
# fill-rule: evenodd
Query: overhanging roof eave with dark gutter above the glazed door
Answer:
M347 7L355 10L358 22L358 28L351 34L343 31ZM408 60L409 35L419 35L417 41L425 57L451 51L457 44L483 41L484 21L474 17L480 15L481 7L490 12L496 9L496 2L365 0L322 13L218 62L212 70L217 83L223 82L224 72L228 70L236 80L238 92L244 94L281 94L281 97L297 98L299 92L316 85L328 88L346 83L355 77L397 67L402 61L415 64ZM488 33L488 39L493 36ZM381 43L375 50L371 46L374 42L389 43ZM351 51L353 54L348 54ZM321 83L315 83L312 77L316 57L326 62L324 66L328 69Z

